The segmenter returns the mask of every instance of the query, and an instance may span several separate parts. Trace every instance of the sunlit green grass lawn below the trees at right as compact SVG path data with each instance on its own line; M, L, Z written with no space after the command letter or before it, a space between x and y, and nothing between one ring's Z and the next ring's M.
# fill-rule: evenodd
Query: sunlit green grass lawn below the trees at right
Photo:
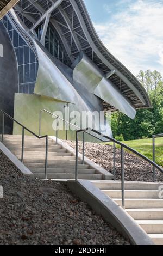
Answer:
M135 141L124 141L122 143L139 151L141 154L152 160L152 139L137 139ZM107 144L111 145L112 143ZM163 138L155 139L155 159L156 163L163 166Z

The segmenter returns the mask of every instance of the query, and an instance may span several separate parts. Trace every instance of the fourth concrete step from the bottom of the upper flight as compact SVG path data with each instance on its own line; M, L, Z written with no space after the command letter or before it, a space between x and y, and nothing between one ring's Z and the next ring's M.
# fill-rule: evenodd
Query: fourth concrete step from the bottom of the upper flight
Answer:
M48 156L48 164L75 164L75 157L72 156ZM35 157L30 156L29 158L26 157L23 160L23 163L45 163L45 156L40 156L40 159L35 159ZM78 164L82 164L82 161L78 161Z

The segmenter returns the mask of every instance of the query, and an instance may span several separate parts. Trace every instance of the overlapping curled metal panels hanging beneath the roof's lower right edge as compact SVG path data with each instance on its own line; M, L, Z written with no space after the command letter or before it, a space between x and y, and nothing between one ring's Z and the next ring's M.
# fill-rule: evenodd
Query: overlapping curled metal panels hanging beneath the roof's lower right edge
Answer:
M136 109L120 90L117 89L114 83L105 78L105 75L86 54L80 52L79 57L72 66L74 68L73 81L75 83L80 84L82 88L86 87L89 92L94 93L111 106L114 106L122 113L128 115L128 117L134 119ZM87 99L90 99L90 96L87 95Z

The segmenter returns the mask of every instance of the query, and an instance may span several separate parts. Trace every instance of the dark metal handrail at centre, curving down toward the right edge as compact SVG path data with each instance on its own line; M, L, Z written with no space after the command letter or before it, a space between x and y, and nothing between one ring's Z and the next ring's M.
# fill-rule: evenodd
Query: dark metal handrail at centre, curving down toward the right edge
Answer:
M138 151L136 151L133 148L130 148L128 145L123 144L122 142L117 141L114 138L108 137L103 135L101 132L98 132L96 130L93 129L80 129L79 131L76 131L76 181L78 180L78 142L79 142L79 132L87 132L87 131L92 131L95 134L91 134L89 133L92 137L98 138L100 141L104 142L103 138L108 139L108 141L105 142L113 142L114 143L114 168L115 168L115 144L118 144L121 146L121 190L122 190L122 207L125 209L125 194L124 194L124 148L126 148L127 150L131 151L132 153L136 154L137 156L141 157L143 160L146 160L148 163L152 164L153 167L157 168L162 174L163 174L163 169L160 168L160 166L158 166L158 164L156 164L155 162L153 162L152 160L148 159L148 157L142 155L141 153L139 153ZM97 135L101 136L101 138L99 138ZM114 177L115 177L115 173L114 173Z

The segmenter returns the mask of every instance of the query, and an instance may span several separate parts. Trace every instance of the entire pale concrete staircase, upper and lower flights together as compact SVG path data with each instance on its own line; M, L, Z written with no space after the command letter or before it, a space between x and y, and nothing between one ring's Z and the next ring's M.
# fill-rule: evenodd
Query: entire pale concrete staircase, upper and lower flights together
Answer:
M21 159L22 136L4 135L4 145ZM23 163L34 174L35 178L45 178L45 139L24 136ZM80 154L79 154L80 155ZM92 180L93 185L122 205L121 181L112 181L112 175L85 157L82 164L78 160L78 179ZM55 180L74 179L74 150L59 140L56 144L53 137L48 141L47 178ZM106 180L107 179L107 180ZM110 180L109 180L110 179ZM152 182L125 182L126 212L151 237L156 245L163 245L163 184Z

